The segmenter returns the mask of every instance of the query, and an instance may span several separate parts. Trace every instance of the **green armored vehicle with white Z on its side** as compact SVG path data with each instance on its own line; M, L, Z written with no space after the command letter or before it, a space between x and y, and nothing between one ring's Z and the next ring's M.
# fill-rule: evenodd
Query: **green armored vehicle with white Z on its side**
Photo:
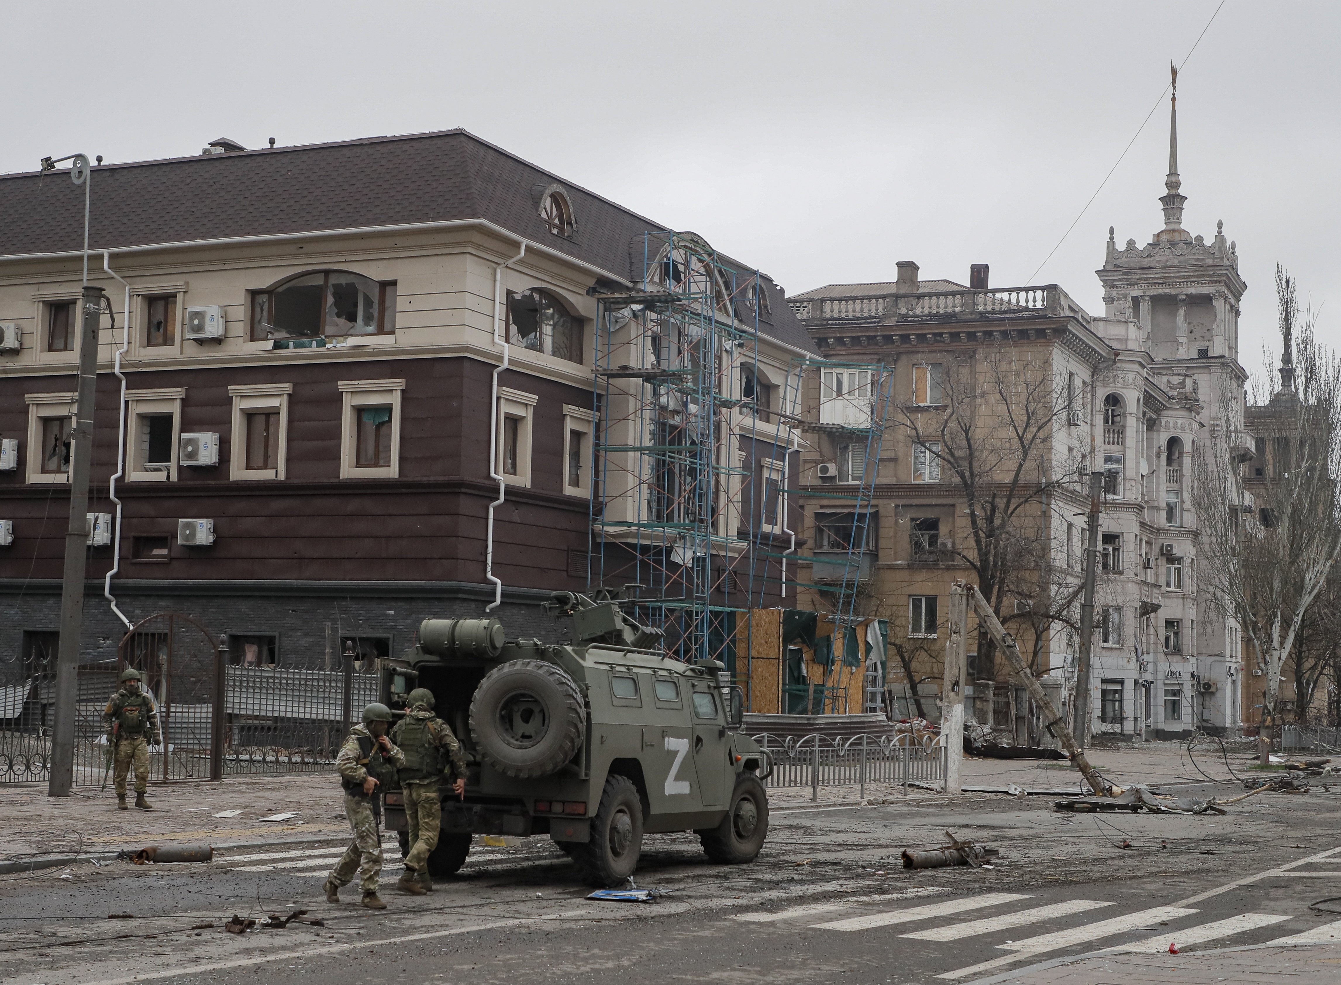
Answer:
M597 886L633 874L644 833L693 831L709 859L752 862L768 832L768 757L742 727L740 690L719 662L685 664L616 601L558 592L571 644L506 640L496 619L428 619L405 659L384 662L384 701L426 687L469 762L465 798L445 789L436 876L472 835L548 835ZM404 805L386 827L408 840Z

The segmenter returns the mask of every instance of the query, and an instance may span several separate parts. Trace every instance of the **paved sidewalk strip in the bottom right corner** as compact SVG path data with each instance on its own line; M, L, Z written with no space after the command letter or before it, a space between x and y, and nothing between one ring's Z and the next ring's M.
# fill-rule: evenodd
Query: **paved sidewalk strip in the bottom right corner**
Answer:
M1341 981L1341 943L1230 947L1192 954L1113 954L1038 972L1003 974L1000 985L1261 985L1263 981Z

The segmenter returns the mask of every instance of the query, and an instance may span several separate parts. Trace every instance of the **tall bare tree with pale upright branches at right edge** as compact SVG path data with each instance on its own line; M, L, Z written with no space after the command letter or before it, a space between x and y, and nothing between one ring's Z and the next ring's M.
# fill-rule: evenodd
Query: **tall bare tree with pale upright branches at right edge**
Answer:
M1228 419L1211 427L1192 459L1192 503L1200 526L1199 566L1210 601L1243 627L1266 678L1258 753L1266 762L1286 662L1305 619L1341 556L1336 476L1341 475L1341 360L1298 322L1293 278L1277 267L1285 349L1281 389L1271 397L1271 458L1254 517L1244 505L1243 470L1231 454ZM1226 408L1236 407L1228 399Z

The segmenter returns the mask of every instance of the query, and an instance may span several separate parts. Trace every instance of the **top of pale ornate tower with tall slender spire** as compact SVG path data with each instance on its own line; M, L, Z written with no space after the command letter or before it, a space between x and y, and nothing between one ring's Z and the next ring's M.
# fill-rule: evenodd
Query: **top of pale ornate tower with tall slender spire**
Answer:
M1207 243L1183 228L1183 180L1177 170L1177 70L1169 99L1169 169L1164 177L1164 228L1143 247L1134 239L1117 247L1108 231L1104 284L1109 318L1134 321L1143 344L1157 360L1227 357L1238 360L1239 299L1247 284L1239 276L1235 244L1216 223Z

